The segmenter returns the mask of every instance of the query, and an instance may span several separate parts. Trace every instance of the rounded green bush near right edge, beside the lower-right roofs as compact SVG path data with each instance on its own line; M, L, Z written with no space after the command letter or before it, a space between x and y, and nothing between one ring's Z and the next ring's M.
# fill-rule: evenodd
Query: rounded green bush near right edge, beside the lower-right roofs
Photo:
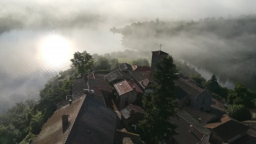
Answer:
M246 121L251 119L250 110L247 109L244 105L231 105L227 109L227 115L237 119L238 121Z

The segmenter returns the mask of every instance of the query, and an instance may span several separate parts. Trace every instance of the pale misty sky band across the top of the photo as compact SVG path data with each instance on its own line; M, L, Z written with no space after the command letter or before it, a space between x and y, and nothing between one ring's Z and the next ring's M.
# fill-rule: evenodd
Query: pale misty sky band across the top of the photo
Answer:
M193 3L192 3L193 2ZM104 23L123 26L130 22L198 20L255 14L253 0L93 0L93 1L1 1L0 30L92 26ZM100 25L102 27L102 25Z

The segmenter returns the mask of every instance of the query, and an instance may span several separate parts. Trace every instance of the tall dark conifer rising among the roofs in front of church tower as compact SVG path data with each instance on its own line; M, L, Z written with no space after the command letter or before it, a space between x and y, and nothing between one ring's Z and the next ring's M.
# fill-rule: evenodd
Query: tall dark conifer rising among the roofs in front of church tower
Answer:
M175 134L175 125L167 119L175 114L174 79L177 78L176 66L172 57L163 57L156 64L154 79L158 84L153 86L150 97L143 98L146 110L145 119L139 123L143 141L158 143L163 138Z

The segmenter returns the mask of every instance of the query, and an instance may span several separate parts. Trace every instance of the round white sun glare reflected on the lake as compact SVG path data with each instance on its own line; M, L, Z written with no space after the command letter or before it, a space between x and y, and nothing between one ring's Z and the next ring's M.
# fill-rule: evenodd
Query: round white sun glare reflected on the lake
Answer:
M73 49L69 39L62 35L51 34L39 41L39 55L48 65L61 66L71 57Z

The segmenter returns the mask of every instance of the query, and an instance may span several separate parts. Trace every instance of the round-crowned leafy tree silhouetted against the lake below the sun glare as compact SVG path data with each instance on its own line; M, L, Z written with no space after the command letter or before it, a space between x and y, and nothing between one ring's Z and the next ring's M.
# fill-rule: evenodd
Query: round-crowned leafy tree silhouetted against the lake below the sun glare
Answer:
M81 73L81 77L83 77L83 74L89 71L93 65L93 57L86 51L82 53L79 51L75 52L74 58L70 59L70 61L78 69L78 72Z

